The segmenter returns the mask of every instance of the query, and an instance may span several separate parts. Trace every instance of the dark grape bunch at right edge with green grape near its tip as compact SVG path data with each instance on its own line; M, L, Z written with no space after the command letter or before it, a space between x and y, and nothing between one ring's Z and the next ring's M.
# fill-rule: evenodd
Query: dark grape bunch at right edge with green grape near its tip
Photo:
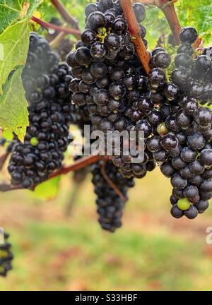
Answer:
M182 29L169 81L161 68L163 60L158 65L158 55L151 58L148 76L151 92L163 100L159 111L166 119L147 146L161 172L171 179L172 215L189 219L203 213L212 197L212 112L202 107L211 104L212 63L204 54L194 55L196 38L194 28Z

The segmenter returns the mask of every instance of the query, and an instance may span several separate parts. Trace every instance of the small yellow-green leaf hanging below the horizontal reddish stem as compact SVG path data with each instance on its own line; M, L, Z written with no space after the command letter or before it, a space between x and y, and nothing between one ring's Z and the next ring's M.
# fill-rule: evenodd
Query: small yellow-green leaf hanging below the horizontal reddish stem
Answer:
M59 191L59 181L60 177L45 181L35 188L33 195L45 200L55 198Z

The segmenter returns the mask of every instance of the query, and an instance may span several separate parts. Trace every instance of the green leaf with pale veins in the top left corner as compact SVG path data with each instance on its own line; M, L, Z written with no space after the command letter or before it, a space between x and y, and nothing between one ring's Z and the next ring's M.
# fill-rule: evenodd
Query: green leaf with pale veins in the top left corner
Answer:
M8 25L30 17L41 0L0 0L0 33Z

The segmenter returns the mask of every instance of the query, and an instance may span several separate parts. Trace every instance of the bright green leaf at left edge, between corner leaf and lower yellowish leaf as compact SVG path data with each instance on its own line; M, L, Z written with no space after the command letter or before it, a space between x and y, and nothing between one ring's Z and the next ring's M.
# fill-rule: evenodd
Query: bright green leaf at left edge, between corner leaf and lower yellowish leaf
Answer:
M28 47L28 19L9 26L0 35L0 95L11 71L25 66Z

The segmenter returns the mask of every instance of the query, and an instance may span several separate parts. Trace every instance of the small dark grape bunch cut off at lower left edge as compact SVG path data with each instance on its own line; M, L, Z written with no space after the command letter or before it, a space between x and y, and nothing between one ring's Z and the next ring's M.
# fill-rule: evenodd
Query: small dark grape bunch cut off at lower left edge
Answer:
M4 233L4 244L0 244L0 276L6 277L9 270L12 269L11 261L13 253L11 252L11 244L8 243L9 235Z

